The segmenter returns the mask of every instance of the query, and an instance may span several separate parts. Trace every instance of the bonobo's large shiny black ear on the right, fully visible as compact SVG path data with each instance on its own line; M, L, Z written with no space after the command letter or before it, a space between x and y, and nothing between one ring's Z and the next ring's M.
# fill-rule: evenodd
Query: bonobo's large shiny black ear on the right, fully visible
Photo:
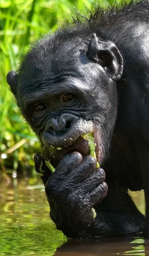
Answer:
M121 78L123 58L114 43L99 41L94 33L86 54L92 61L99 63L102 67L107 67L112 73L112 79L119 80Z

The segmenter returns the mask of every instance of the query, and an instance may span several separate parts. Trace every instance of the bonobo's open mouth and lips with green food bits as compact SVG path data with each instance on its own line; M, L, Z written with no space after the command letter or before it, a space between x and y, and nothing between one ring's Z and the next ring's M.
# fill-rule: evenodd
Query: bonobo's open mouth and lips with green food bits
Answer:
M95 154L97 162L100 163L103 158L103 144L99 128L92 121L78 119L74 125L62 136L53 135L48 131L43 132L42 136L42 155L45 160L54 166L58 165L65 154L77 151L82 154L83 158L90 153L89 142L84 139L84 134L94 134L96 143Z

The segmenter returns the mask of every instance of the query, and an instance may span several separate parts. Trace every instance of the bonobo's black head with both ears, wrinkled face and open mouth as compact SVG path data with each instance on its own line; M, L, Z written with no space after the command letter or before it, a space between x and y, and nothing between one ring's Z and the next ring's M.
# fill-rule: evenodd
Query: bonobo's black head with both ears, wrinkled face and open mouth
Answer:
M86 35L87 33L87 35ZM89 154L81 135L93 132L97 160L108 150L117 116L123 58L111 41L91 32L59 31L37 42L7 82L23 116L54 167L64 154Z

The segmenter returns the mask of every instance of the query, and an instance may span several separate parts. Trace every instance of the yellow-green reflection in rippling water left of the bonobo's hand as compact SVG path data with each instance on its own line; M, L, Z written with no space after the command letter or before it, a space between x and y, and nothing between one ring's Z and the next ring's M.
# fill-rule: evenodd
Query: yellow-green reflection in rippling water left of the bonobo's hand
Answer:
M32 184L0 184L0 256L51 256L67 241L49 218L43 185Z

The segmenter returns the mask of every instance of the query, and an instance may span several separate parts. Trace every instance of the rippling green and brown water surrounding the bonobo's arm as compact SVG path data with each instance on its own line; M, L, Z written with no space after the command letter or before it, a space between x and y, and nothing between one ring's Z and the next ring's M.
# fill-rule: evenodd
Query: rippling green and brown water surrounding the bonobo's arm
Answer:
M144 212L143 192L132 196ZM40 180L0 183L0 256L149 256L149 240L139 235L69 240L49 218Z

